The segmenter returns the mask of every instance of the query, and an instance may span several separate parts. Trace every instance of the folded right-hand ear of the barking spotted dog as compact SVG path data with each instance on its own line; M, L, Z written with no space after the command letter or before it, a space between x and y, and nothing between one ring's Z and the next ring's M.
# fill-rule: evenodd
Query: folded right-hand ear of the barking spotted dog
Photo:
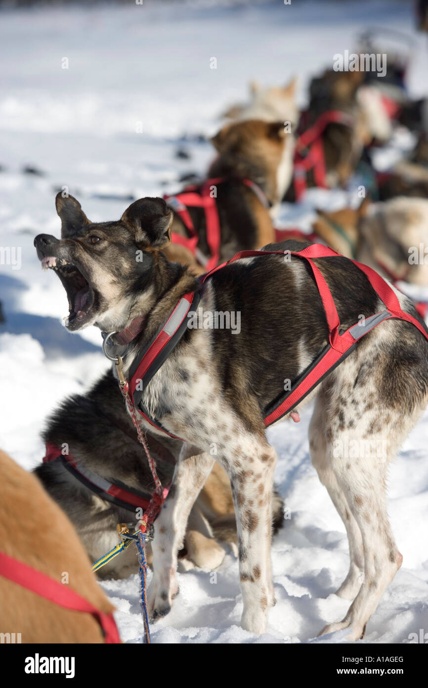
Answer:
M163 198L140 198L122 215L126 226L135 232L135 241L153 248L164 248L171 241L172 211Z

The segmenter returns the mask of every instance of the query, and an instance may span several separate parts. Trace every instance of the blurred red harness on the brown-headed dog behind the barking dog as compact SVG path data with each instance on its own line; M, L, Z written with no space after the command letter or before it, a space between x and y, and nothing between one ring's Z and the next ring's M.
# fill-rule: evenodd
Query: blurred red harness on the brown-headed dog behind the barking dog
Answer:
M180 244L180 246L188 248L199 264L208 271L215 268L218 264L221 246L220 219L218 218L216 195L213 195L213 187L225 181L223 177L207 179L203 182L202 186L192 184L191 186L187 186L181 193L172 196L164 196L164 200L166 200L168 206L170 206L174 213L179 215L183 225L188 231L188 237L183 237L181 234L177 234L177 232L172 232L172 244ZM269 207L269 201L258 184L251 182L249 179L243 179L240 180L240 182L248 186L251 191L254 191L265 207ZM188 208L203 208L205 213L207 244L210 249L209 258L205 257L198 248L199 236L194 228Z

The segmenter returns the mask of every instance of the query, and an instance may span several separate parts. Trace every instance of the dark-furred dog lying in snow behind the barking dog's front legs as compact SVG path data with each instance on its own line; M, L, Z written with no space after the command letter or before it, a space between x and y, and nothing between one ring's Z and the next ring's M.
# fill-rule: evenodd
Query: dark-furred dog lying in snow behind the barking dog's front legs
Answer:
M137 506L130 504L124 508L117 499L94 492L91 484L82 484L81 477L70 473L69 466L57 459L63 444L67 444L69 455L85 471L95 473L104 481L124 486L126 491L135 490L146 499L150 498L153 486L142 446L112 372L104 374L87 394L65 399L47 420L43 440L59 449L54 453L55 460L37 466L35 473L71 519L91 561L97 561L117 544L118 523L127 523L130 530L135 530ZM168 484L174 464L179 460L181 442L168 437L158 441L153 433L148 433L147 441L161 482ZM282 499L275 493L274 530L282 526L282 520ZM181 568L199 566L212 570L220 566L225 549L218 541L235 546L236 523L229 479L220 464L214 464L190 512L180 556ZM151 563L150 544L147 557ZM137 568L135 547L129 547L98 574L102 578L127 578Z

